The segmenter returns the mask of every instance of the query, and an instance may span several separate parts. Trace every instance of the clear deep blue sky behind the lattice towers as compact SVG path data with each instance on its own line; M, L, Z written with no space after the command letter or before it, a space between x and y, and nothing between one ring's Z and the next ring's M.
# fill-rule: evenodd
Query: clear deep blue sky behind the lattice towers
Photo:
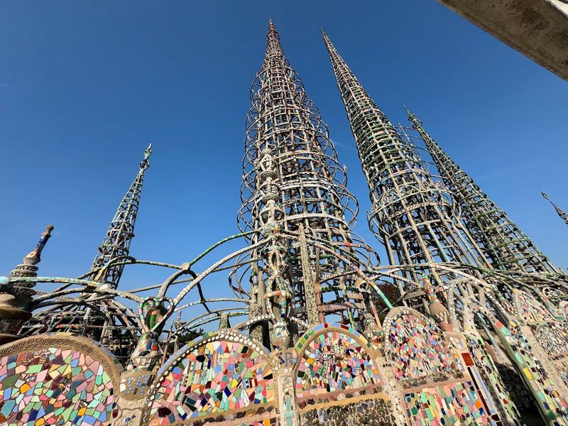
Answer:
M182 263L235 234L249 87L268 18L329 125L361 212L368 191L322 27L391 121L406 122L407 105L568 266L568 228L540 196L568 209L567 83L434 0L4 0L0 274L49 223L40 274L88 271L148 141L131 254ZM383 253L364 213L355 231ZM146 271L127 272L121 288L165 277Z

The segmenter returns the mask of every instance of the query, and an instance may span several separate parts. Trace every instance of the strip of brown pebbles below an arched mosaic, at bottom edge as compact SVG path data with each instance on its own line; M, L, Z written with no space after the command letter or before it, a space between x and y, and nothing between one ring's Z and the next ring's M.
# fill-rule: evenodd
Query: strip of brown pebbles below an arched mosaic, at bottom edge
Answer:
M346 405L329 405L327 407L305 410L300 413L302 426L344 426L395 425L393 409L383 399L359 400Z

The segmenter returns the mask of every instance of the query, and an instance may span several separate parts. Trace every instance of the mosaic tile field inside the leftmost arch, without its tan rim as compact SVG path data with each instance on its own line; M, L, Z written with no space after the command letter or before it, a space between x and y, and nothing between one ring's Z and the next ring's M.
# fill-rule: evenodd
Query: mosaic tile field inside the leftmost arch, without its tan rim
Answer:
M112 383L99 362L72 349L0 359L0 421L19 426L103 425Z

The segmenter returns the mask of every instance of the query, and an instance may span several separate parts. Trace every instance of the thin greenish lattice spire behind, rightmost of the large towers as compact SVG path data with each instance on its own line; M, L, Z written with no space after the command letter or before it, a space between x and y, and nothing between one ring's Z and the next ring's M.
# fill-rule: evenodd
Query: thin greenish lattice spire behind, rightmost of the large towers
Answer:
M524 273L558 273L557 268L528 236L442 151L426 133L422 121L410 111L408 119L432 155L444 183L454 192L469 229L491 259L492 265Z

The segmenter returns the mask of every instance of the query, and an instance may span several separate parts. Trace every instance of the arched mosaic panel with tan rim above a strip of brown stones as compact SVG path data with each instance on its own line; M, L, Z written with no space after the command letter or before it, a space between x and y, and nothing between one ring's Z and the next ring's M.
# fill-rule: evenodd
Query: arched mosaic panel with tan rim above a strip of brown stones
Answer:
M371 345L354 329L320 324L307 332L296 347L301 354L295 385L297 398L381 384L368 353Z

